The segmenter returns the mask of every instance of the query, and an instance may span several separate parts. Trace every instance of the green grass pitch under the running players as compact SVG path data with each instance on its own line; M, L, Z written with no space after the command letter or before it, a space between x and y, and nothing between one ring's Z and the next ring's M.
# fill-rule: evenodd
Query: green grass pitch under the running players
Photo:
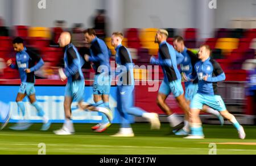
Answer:
M39 143L44 143L46 154L208 155L209 143L224 143L216 144L217 154L256 155L256 126L245 126L245 140L238 139L237 131L231 125L204 125L205 139L188 140L171 134L167 123L163 123L158 131L151 131L147 123L135 123L132 125L134 138L109 136L118 131L118 124L113 124L104 133L93 132L90 130L92 125L75 124L76 134L69 136L53 134L52 131L59 129L61 124L52 124L46 132L39 131L41 124L33 124L27 131L11 131L7 126L0 131L0 154L36 155L40 149Z

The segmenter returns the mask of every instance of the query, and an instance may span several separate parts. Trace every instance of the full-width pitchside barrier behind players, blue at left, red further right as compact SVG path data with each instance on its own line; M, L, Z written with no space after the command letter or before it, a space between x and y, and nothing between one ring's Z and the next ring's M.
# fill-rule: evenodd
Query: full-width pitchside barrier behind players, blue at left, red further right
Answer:
M85 81L84 101L88 103L93 103L92 83L92 80ZM163 111L156 105L156 96L161 81L139 81L137 83L139 83L139 85L135 86L134 105L148 112L158 113L160 117L165 117ZM36 97L39 103L46 111L46 115L56 123L61 123L64 120L63 101L65 84L66 82L59 80L36 80L35 84ZM0 80L0 101L9 103L13 111L10 122L16 122L21 118L15 102L19 85L19 80ZM253 111L247 109L249 103L247 103L247 97L245 96L246 82L226 81L220 82L218 86L220 95L224 99L227 109L231 113L238 115L238 119L241 123L253 124ZM114 114L113 123L119 123L119 113L116 109L116 90L117 87L113 83L110 93L110 107ZM26 106L26 118L31 119L34 123L42 122L42 119L36 116L36 110L29 104L28 99L24 99L24 102ZM183 117L183 111L177 105L172 94L168 96L166 102L172 111ZM75 123L98 123L101 120L101 115L96 112L79 111L77 109L77 102L72 104L72 114ZM207 123L218 123L217 119L214 119L211 115L203 114L203 117L207 117ZM130 121L134 122L133 116L130 116ZM135 121L143 120L135 118Z

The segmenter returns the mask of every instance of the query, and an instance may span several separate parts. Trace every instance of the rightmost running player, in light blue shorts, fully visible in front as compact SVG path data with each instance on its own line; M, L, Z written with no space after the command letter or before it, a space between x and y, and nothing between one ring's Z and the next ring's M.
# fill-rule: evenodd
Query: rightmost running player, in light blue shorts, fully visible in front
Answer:
M238 131L240 139L245 139L245 131L237 122L234 115L226 110L226 106L221 96L218 94L217 82L225 80L225 73L215 60L210 59L209 45L202 45L199 50L200 61L195 64L195 74L186 76L184 80L193 81L198 78L199 90L191 101L191 135L185 137L187 139L203 139L203 128L199 118L200 111L204 105L214 110L220 111L222 117L228 119Z

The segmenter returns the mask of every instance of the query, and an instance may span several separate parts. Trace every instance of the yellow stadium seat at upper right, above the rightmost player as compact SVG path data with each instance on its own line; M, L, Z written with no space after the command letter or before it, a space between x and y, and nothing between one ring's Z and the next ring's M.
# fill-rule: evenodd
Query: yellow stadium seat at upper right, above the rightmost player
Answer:
M222 49L225 55L229 55L233 49L237 49L239 39L236 38L220 38L217 40L216 48Z

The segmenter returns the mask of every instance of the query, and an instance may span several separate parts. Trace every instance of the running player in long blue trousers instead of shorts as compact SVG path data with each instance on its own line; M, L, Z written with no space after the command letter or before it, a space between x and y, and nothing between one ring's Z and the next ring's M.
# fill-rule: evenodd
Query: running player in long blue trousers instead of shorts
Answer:
M129 50L122 45L123 34L114 32L112 34L111 44L115 48L115 63L117 64L116 76L117 82L117 110L121 115L121 128L119 132L112 136L134 136L133 129L129 123L128 115L135 115L146 118L151 123L151 129L159 129L160 121L158 114L147 113L139 107L133 106L133 60Z

